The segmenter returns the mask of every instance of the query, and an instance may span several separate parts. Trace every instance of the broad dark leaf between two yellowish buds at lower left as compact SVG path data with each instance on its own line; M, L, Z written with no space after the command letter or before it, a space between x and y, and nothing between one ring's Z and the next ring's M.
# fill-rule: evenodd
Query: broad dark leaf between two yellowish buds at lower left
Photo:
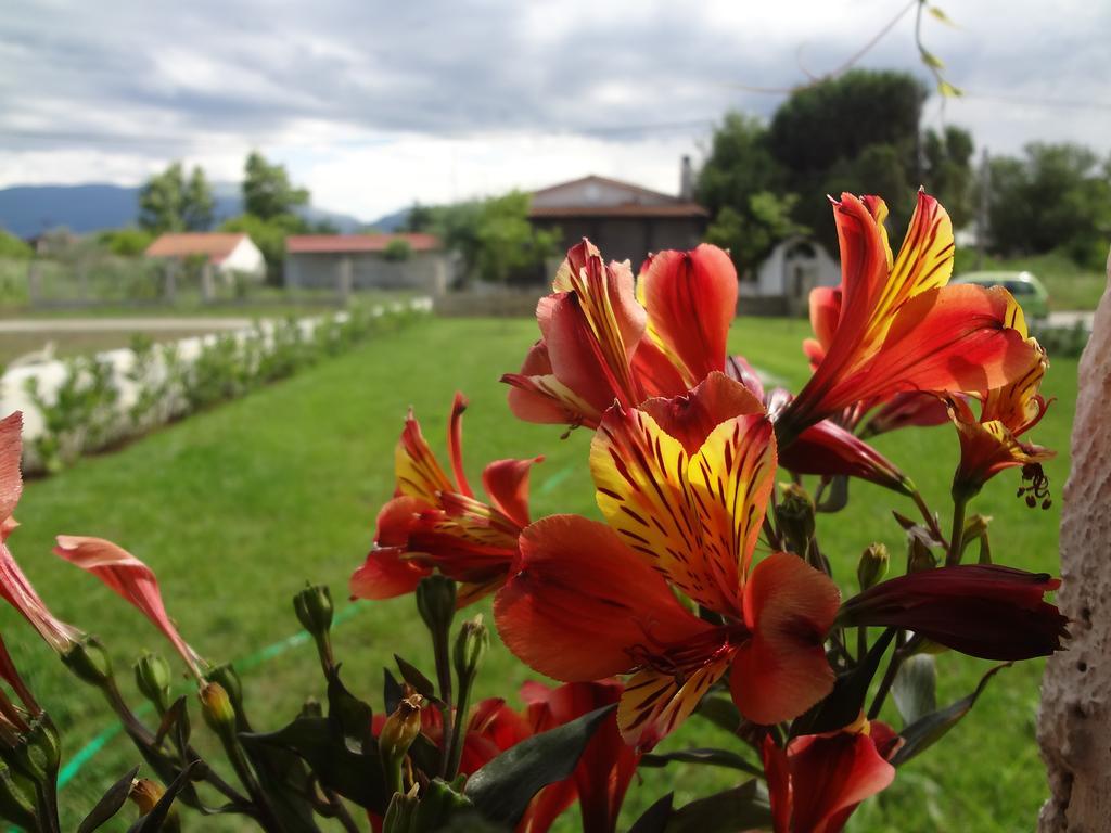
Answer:
M328 717L298 717L284 729L239 735L244 745L271 745L296 752L320 783L361 807L384 813L389 802L377 752L354 752Z

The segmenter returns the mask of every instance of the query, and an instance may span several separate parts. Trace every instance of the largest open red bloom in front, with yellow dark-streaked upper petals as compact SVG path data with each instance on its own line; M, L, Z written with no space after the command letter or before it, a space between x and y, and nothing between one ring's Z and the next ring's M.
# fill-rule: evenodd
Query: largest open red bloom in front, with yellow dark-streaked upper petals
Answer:
M618 724L633 745L671 732L727 672L755 723L794 717L833 685L823 643L837 586L788 553L753 566L775 440L755 397L722 382L645 410L614 405L591 446L608 525L537 521L494 600L502 639L537 671L571 682L632 673Z

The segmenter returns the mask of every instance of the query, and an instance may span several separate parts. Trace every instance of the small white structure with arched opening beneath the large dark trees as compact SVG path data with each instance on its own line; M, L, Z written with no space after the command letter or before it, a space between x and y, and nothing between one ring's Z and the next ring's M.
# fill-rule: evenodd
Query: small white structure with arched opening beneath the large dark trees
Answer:
M771 250L754 272L741 279L741 310L744 311L745 299L760 299L767 312L803 314L810 290L837 287L840 282L841 267L821 243L809 238L788 238Z

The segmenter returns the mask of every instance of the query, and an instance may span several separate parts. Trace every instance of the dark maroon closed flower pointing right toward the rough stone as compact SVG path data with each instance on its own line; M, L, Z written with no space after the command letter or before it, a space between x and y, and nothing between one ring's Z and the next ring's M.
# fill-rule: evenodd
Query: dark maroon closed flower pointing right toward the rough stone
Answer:
M1001 564L959 564L901 575L853 596L847 626L902 628L984 660L1029 660L1061 649L1069 620L1042 596L1060 579Z

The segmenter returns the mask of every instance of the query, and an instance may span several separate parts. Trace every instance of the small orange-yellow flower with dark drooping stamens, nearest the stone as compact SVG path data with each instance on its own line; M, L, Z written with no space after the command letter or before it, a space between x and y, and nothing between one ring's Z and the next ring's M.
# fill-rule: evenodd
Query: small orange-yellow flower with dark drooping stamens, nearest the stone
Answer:
M1038 342L1031 339L1030 343L1033 351L1027 371L1010 384L988 391L979 420L968 402L950 400L949 415L961 441L961 462L953 475L953 494L975 494L1004 469L1022 466L1023 480L1032 484L1020 493L1029 492L1027 500L1031 505L1048 499L1048 481L1041 463L1053 458L1054 452L1019 439L1041 422L1049 408L1038 392L1049 362Z

